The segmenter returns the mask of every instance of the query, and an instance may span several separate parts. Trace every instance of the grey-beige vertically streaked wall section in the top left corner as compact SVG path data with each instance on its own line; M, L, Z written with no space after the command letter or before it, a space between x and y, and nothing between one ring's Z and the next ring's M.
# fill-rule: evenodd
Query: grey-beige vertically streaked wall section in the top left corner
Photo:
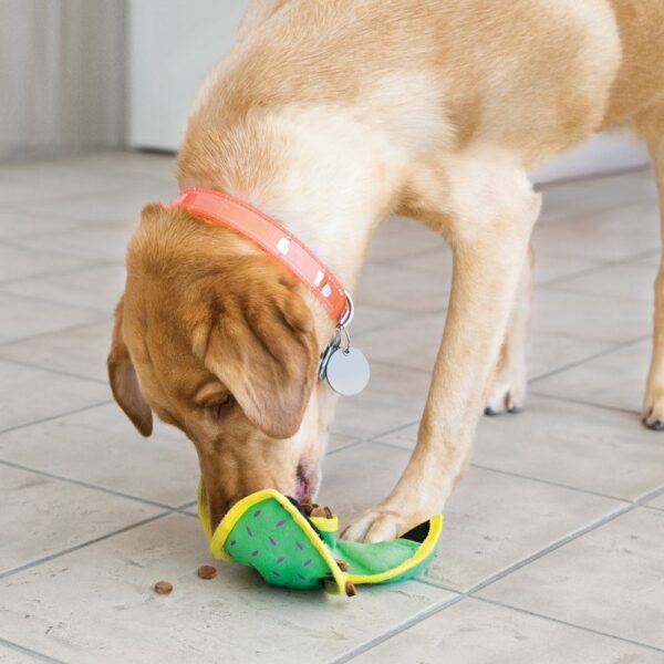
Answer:
M124 0L0 0L0 159L124 142Z

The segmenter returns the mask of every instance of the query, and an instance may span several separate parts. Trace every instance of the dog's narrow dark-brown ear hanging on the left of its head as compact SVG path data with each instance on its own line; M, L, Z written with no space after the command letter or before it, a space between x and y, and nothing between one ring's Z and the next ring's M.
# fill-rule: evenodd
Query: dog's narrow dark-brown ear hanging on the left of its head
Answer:
M129 357L129 352L124 342L122 320L123 298L120 299L120 302L115 308L111 352L106 360L108 380L111 382L113 396L120 404L120 407L134 423L134 426L147 437L152 434L152 411L143 397L141 385L138 384L138 376L136 375L132 359Z

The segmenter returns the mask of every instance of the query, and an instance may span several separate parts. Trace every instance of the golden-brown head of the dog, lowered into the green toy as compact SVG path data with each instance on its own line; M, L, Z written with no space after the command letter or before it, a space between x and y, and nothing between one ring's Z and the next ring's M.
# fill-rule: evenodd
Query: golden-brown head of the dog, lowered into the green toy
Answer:
M212 528L256 490L315 491L319 344L300 289L231 231L156 204L143 210L111 386L144 436L154 413L194 442Z

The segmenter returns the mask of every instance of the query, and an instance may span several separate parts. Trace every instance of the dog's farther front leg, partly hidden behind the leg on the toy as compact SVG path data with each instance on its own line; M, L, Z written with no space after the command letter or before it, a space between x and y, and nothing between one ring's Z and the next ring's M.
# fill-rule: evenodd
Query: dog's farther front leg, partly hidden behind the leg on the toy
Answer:
M500 349L496 375L487 404L486 415L518 413L526 403L528 331L530 326L530 300L532 295L532 266L535 253L530 247L515 298L515 304Z

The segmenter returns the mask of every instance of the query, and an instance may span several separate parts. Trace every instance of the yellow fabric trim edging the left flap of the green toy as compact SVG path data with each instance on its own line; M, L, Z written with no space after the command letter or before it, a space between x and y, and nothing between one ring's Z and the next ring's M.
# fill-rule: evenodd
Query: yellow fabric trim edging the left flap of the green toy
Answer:
M207 500L200 499L205 498L205 491L203 491L201 485L203 483L199 483L198 485L198 518L201 520L204 531L210 542L210 553L215 558L224 562L232 561L232 559L224 550L224 544L226 543L226 539L228 538L230 531L235 528L240 517L251 506L262 500L273 498L281 505L281 507L286 509L286 511L290 513L295 523L298 523L298 526L307 535L309 541L313 544L313 548L323 557L324 561L328 563L328 567L330 568L330 571L332 572L332 577L334 579L334 584L332 584L331 581L325 583L325 590L332 594L340 594L345 591L346 574L344 574L344 572L341 571L341 568L339 567L336 560L334 560L328 547L325 547L321 538L317 535L315 530L313 530L311 523L300 513L300 510L297 509L295 506L288 498L282 496L279 491L276 491L274 489L264 489L262 491L258 491L256 494L251 494L251 496L242 498L228 510L224 519L221 519L219 526L217 526L217 530L215 530L214 535L209 536L208 533L210 532L210 526L207 510ZM204 518L201 518L201 513ZM336 521L336 517L334 517L333 519L321 520Z

